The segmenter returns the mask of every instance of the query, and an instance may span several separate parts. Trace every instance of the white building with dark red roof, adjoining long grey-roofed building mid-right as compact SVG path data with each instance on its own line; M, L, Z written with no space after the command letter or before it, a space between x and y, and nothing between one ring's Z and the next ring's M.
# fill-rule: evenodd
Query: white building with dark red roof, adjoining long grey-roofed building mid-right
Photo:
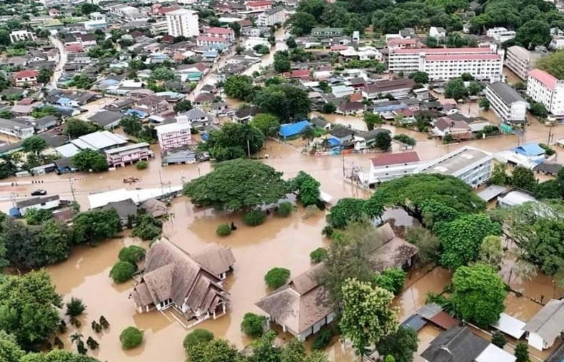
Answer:
M420 160L417 152L408 151L399 154L382 154L370 161L368 183L376 184L413 174Z

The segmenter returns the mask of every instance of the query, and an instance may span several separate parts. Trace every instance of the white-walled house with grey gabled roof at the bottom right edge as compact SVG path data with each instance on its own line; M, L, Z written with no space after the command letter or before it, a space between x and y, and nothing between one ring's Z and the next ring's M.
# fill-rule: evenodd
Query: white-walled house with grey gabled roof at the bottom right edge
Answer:
M533 318L530 318L523 331L529 346L543 351L554 345L556 338L564 332L564 299L551 299Z

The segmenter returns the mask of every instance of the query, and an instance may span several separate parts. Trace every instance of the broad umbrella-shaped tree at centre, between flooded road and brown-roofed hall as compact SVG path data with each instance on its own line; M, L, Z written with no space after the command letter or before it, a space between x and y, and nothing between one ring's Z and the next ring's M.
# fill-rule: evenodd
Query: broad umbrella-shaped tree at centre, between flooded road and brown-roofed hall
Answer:
M184 186L193 203L230 211L276 203L287 192L281 172L247 159L220 162L209 174Z

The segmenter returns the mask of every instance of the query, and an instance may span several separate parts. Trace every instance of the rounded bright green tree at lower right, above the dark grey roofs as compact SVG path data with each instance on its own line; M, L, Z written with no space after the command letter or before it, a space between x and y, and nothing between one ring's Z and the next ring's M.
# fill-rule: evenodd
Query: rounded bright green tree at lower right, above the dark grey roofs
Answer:
M465 321L487 328L503 312L505 284L490 266L462 266L453 276L453 306Z

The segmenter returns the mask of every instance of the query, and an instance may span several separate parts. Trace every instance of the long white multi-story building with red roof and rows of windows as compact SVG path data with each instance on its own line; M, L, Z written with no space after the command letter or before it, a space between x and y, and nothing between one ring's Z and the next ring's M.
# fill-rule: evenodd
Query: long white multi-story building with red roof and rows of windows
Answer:
M388 69L413 73L425 71L433 81L448 81L463 73L475 79L500 81L503 50L495 44L478 48L390 49Z

